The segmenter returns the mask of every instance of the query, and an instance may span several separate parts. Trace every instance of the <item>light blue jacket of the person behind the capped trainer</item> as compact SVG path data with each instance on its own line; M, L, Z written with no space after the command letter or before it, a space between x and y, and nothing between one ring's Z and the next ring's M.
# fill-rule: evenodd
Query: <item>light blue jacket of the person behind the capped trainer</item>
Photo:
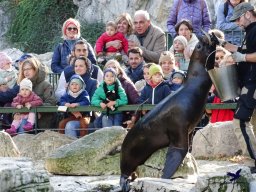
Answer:
M241 45L243 30L235 22L229 21L230 17L233 15L234 8L229 4L227 16L225 17L224 4L225 3L221 3L218 7L216 28L224 31L226 41Z

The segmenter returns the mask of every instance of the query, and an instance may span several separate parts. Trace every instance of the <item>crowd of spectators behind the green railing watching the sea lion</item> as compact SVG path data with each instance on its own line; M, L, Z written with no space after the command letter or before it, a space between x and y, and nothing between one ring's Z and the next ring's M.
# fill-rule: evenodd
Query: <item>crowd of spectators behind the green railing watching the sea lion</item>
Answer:
M221 14L217 16L217 27L241 31L236 24L228 24L237 4L233 0L227 2L228 5L220 5L219 12L226 6L228 11L227 14L223 12L224 17ZM151 22L145 10L136 11L133 18L123 13L116 21L107 22L106 32L93 47L86 38L81 37L79 21L70 18L63 23L63 42L54 49L51 61L51 71L60 74L57 88L54 90L47 81L47 66L34 55L24 54L18 60L17 71L11 65L11 58L0 52L0 104L27 108L35 106L26 99L22 104L13 104L17 95L22 97L20 92L28 89L42 99L40 105L66 108L92 105L105 109L100 114L63 112L60 116L41 113L37 116L40 128L58 127L59 132L75 137L88 134L88 128L116 125L132 128L141 114L138 116L137 111L119 112L118 107L126 104L157 104L167 95L178 91L186 81L190 57L198 38L202 36L201 28L208 32L211 27L205 0L175 0L167 20L168 32L173 37L169 50L164 31ZM219 31L209 32L217 35ZM225 33L227 40L230 40L229 34ZM230 42L239 44L241 40L235 37ZM221 61L225 63L223 59L231 56L231 53L223 49L223 55L219 56L221 48L217 50L216 67L220 67ZM115 58L117 53L122 56L121 61ZM105 56L114 57L108 59L104 66L99 66L97 57ZM25 79L31 82L31 86L22 84ZM207 112L210 113L213 112ZM21 115L7 118L10 125L6 127L7 132L15 135L32 130L35 116L30 113Z

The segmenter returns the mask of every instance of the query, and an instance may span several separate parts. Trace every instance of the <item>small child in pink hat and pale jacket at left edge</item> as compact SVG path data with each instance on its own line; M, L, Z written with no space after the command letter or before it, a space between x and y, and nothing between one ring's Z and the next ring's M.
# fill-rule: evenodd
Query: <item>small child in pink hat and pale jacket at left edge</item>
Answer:
M11 89L17 80L18 71L12 66L12 59L4 52L0 52L0 91Z

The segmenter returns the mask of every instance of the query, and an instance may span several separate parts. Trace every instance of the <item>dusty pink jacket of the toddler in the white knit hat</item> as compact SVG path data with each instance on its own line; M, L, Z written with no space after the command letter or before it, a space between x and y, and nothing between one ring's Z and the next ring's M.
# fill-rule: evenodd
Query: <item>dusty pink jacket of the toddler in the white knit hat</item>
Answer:
M13 98L12 107L17 107L17 105L25 105L25 103L30 103L32 107L40 106L43 104L43 100L35 94L33 91L28 97L22 97L19 93Z

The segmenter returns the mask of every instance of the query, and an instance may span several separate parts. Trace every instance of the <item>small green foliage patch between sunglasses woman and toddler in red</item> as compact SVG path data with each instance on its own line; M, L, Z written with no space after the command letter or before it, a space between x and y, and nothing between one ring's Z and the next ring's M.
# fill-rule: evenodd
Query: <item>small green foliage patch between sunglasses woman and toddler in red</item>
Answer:
M105 24L98 23L81 23L81 36L86 39L93 47L99 36L105 31Z

